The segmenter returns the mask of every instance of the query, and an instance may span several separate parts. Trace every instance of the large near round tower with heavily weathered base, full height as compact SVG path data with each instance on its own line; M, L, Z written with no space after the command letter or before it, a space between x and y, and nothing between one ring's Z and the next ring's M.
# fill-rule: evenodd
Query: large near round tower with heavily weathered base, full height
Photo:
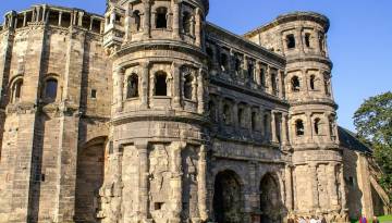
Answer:
M108 1L112 147L102 222L199 222L206 206L208 0ZM121 208L119 208L121 207Z

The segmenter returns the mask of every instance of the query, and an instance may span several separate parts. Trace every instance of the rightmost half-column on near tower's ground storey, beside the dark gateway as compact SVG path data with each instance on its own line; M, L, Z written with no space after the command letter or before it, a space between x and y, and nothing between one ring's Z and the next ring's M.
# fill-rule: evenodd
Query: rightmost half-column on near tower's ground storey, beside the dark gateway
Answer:
M205 145L201 145L197 174L197 198L199 215L203 222L208 220L209 214L207 208L207 148Z

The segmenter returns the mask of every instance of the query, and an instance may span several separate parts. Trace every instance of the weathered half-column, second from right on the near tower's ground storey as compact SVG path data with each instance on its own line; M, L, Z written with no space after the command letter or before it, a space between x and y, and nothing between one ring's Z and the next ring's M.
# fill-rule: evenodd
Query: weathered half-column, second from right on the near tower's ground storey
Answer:
M170 223L181 223L182 212L182 157L181 150L185 148L186 144L180 141L172 143L170 146L170 169L171 169L171 219Z

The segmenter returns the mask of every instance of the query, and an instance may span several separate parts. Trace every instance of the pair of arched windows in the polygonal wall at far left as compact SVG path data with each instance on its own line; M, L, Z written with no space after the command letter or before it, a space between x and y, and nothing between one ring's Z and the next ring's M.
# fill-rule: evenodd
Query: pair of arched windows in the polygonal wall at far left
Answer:
M22 90L23 90L23 79L19 78L16 79L11 87L11 102L15 103L21 100L22 97ZM44 83L44 88L40 94L41 99L45 100L45 102L54 102L57 99L58 94L58 80L54 77L48 77L46 78Z

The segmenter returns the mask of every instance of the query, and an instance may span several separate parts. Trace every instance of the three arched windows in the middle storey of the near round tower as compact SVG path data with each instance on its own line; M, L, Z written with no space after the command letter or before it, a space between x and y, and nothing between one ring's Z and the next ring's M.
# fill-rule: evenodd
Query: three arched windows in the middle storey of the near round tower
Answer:
M169 96L168 95L168 74L159 71L154 77L154 96ZM183 75L182 92L185 99L194 99L194 76L191 73ZM126 79L126 99L139 97L139 77L132 73Z

